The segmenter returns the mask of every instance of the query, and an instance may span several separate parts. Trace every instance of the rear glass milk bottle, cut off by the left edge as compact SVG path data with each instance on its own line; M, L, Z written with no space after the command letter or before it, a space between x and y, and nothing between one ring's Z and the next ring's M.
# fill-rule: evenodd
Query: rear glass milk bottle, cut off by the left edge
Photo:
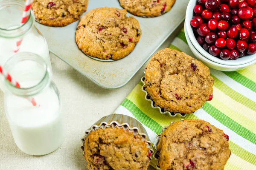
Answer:
M0 65L16 54L16 42L22 40L19 52L32 52L43 57L51 70L49 50L43 35L34 26L35 17L30 11L26 23L20 26L24 0L0 0ZM0 81L0 89L5 91L3 81Z

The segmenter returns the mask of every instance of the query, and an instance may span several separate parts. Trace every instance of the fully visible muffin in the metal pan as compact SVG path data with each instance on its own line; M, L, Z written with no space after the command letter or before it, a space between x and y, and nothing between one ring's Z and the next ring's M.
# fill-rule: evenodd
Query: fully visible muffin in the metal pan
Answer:
M85 14L76 30L76 43L91 57L121 59L134 50L142 31L134 17L118 8L97 8Z

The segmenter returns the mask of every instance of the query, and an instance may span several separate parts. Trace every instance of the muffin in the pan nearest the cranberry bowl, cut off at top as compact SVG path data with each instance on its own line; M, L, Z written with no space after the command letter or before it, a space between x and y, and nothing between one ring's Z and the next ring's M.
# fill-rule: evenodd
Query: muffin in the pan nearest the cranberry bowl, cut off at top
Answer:
M157 17L170 11L175 0L119 0L119 2L131 14L140 17Z

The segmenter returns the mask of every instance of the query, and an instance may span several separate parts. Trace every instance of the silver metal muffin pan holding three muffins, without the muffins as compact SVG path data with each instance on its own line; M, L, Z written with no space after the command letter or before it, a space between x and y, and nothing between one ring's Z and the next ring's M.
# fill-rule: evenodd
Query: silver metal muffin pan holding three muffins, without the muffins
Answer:
M139 21L142 36L131 54L112 62L88 57L77 47L75 34L79 21L56 28L40 23L35 25L47 40L50 52L100 87L115 89L124 86L183 22L188 3L189 0L176 0L169 12L158 17L136 17L128 13L128 17L133 16ZM122 9L118 0L89 0L87 11L105 6Z

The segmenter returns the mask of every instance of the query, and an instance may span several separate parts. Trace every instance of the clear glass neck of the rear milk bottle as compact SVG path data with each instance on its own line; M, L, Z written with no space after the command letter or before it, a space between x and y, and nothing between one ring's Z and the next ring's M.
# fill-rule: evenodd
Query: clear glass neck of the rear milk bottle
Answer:
M35 17L31 11L27 22L20 25L24 6L24 0L0 0L0 37L23 37L32 28Z

